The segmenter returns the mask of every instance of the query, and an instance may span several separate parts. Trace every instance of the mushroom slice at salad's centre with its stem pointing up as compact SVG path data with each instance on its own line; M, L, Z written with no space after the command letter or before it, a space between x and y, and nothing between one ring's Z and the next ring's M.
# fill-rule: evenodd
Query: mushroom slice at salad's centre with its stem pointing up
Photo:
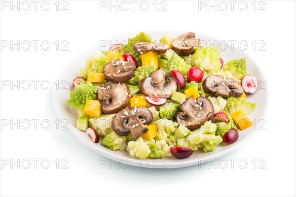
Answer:
M173 76L167 77L168 71L157 69L150 76L141 80L141 92L148 97L171 98L177 91L177 82Z

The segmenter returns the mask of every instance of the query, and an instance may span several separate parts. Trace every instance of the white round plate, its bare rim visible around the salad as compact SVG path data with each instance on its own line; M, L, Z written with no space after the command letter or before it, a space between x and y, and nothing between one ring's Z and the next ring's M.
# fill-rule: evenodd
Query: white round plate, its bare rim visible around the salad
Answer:
M182 34L182 32L147 32L149 33L154 40L159 40L164 33L171 33L175 36L178 36ZM137 33L129 33L129 34L123 34L118 35L116 37L109 38L112 43L115 43L116 40L119 42L122 40L126 40L128 37L132 37ZM215 43L215 39L210 38L205 35L196 34L196 37L200 37L202 40L210 41L210 43ZM101 38L102 40L104 38ZM107 40L107 39L106 39ZM219 40L218 40L219 43ZM61 77L60 80L67 80L69 82L68 86L62 89L61 87L59 90L54 89L53 90L53 104L55 111L59 117L60 120L66 119L69 121L68 128L69 131L74 135L75 138L77 138L82 144L90 148L91 150L108 157L112 160L118 161L124 165L130 164L140 167L149 167L149 168L178 168L178 167L185 167L200 163L209 162L210 160L214 160L217 158L220 158L226 154L231 153L232 151L236 150L240 145L243 144L243 142L247 142L250 138L250 136L257 131L253 129L253 127L250 127L244 131L239 131L239 139L237 142L231 145L224 145L221 143L217 146L216 150L209 153L204 153L203 151L194 151L194 153L187 159L176 159L170 154L167 154L167 156L164 159L147 159L147 160L137 160L136 158L133 158L129 155L126 151L111 151L107 147L101 145L100 143L95 144L93 143L88 136L79 130L75 128L76 120L78 118L76 111L72 109L69 104L67 103L67 100L69 99L70 91L72 90L72 81L75 77L78 76L78 68L84 65L85 59L91 55L95 51L99 51L100 42L94 46L94 48L90 49L89 51L80 54L78 57L76 57L71 63L67 66L65 66L64 72L61 70ZM104 49L107 50L107 49ZM221 51L221 57L225 60L225 62L229 60L239 59L239 58L247 58L247 65L248 65L248 73L253 74L257 77L259 81L263 81L263 75L260 72L258 66L249 58L247 57L244 52L234 49L231 50L231 47L228 46L227 50ZM64 83L62 83L64 84ZM261 85L263 82L261 82ZM259 84L260 85L260 84ZM262 88L266 88L263 85ZM267 101L267 92L259 90L254 95L248 96L248 99L252 102L257 103L256 110L250 115L250 119L258 121L263 118L263 114L266 109L266 101ZM102 138L100 139L100 142L102 141Z

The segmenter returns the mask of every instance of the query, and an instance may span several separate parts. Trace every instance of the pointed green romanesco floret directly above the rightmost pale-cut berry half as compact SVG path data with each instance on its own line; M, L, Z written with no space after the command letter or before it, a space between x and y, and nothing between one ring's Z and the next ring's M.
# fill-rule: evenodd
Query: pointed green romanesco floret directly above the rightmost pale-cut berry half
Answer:
M241 80L247 74L246 58L231 60L223 66L222 72L218 73L222 76L229 77L234 80Z

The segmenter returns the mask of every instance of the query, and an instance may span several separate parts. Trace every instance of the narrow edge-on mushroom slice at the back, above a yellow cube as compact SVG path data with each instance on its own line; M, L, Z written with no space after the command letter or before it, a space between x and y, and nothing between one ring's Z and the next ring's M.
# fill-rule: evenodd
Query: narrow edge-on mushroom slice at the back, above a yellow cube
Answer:
M156 42L138 42L133 45L133 50L143 55L148 51L155 51L158 53L165 53L169 49L169 45Z

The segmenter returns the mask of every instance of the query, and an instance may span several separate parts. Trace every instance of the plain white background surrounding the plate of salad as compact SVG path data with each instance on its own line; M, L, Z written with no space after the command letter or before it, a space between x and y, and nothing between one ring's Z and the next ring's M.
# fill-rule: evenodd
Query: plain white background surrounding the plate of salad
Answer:
M9 47L1 49L1 83L4 83L3 80L26 79L49 80L51 83L49 90L42 90L40 83L37 83L37 90L32 87L27 91L17 90L17 87L13 87L13 90L9 86L2 87L1 120L48 119L51 127L44 130L39 122L37 129L31 126L28 130L18 130L14 126L11 130L9 126L2 125L1 162L28 159L31 160L31 167L24 169L20 166L18 169L16 164L12 167L10 164L1 164L0 196L296 195L295 1L264 1L265 11L258 11L264 5L258 1L255 2L256 11L253 10L254 3L251 4L253 1L246 1L246 11L239 10L237 1L234 11L231 11L230 2L225 1L228 5L226 11L220 11L219 7L217 11L215 7L208 11L208 7L200 7L198 1L176 0L166 1L167 11L163 12L159 11L160 7L154 10L154 1L148 1L149 9L146 12L139 8L140 1L135 11L128 1L129 11L117 12L115 8L110 12L108 7L100 11L100 2L95 0L68 0L69 11L66 12L56 11L55 0L49 1L49 11L42 11L40 2L37 11L34 11L33 3L27 12L21 8L20 11L17 8L10 11L10 7L1 7L1 41L13 40L16 43L17 40L38 40L40 43L48 40L51 43L48 51L42 50L40 44L37 44L36 51L33 45L28 51L22 48L18 51L16 47L13 50ZM204 2L208 4L208 1ZM219 1L216 3L218 5ZM225 156L224 159L228 161L226 169L218 165L220 160L216 162L217 168L213 163L180 169L141 169L131 166L123 169L109 160L107 165L100 166L102 159L106 158L80 144L67 130L55 128L57 116L52 104L52 89L64 65L89 50L99 40L108 40L109 36L158 30L163 33L169 33L170 30L192 31L226 41L245 40L248 43L246 54L252 57L265 75L268 89L266 96L269 100L264 118L266 130L257 130L252 141ZM54 44L56 40L69 42L69 50L61 51L60 45L57 51ZM254 50L251 44L254 40L263 40L266 50L260 51L260 45ZM32 159L39 159L36 169ZM42 159L50 161L48 169L40 165ZM56 159L59 159L58 169L54 163ZM62 159L69 161L66 165L68 169L62 169ZM242 169L236 161L232 169L230 159L245 159L248 166ZM254 159L257 163L255 167ZM259 159L266 162L261 166L265 169L259 169L259 164L262 164Z

